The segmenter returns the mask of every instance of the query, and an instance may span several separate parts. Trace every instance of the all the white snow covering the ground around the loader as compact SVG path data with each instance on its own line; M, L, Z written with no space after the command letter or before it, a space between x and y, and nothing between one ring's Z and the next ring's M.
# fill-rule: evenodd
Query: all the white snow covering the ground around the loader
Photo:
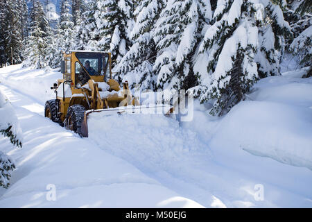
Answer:
M0 69L24 135L0 207L312 207L312 79L260 80L225 117L89 114L89 138L44 118L54 70ZM55 200L49 189L55 186Z

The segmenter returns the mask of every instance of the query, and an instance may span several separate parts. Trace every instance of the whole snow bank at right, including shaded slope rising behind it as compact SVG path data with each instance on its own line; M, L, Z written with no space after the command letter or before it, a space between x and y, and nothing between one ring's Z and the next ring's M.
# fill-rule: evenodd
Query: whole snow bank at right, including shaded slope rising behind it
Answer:
M302 70L264 78L220 121L210 145L312 170L312 78Z

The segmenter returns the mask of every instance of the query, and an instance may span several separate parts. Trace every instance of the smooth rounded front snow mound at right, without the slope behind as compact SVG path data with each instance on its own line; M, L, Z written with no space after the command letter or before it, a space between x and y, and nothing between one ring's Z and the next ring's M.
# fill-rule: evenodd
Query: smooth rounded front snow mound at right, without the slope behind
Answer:
M214 146L243 148L254 155L312 170L312 109L245 101L218 126Z

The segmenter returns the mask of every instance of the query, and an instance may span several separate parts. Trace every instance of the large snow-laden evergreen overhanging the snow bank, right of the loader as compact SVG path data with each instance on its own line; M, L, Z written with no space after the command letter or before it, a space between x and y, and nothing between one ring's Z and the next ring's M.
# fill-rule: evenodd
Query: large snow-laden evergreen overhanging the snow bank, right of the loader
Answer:
M258 78L279 74L284 36L291 28L268 0L219 0L196 56L200 101L215 99L211 114L225 114ZM205 65L206 64L206 65Z

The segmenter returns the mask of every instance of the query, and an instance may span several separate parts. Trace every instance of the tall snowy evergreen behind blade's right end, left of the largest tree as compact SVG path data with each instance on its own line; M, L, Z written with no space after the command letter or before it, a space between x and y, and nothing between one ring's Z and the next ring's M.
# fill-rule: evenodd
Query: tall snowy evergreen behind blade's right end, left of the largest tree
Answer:
M196 85L192 58L210 19L209 1L168 0L153 36L158 50L153 67L158 88L187 89Z

